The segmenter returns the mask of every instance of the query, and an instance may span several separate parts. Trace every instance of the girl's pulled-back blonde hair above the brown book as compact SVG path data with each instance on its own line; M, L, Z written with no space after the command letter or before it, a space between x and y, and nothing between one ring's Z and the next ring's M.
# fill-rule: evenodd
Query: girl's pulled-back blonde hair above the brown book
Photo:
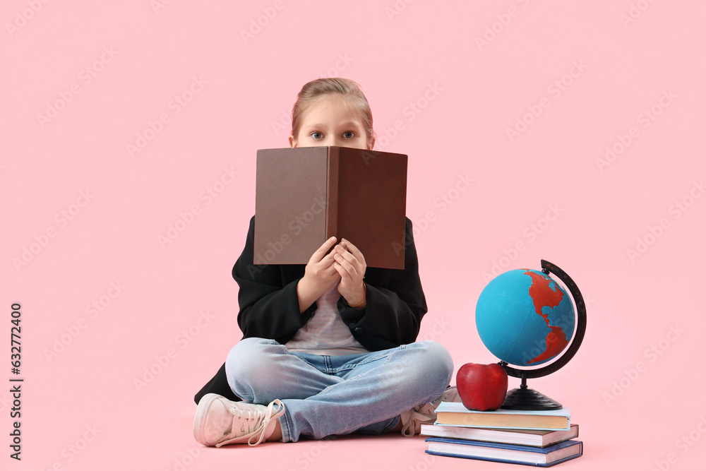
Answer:
M301 128L301 117L313 103L320 97L338 93L344 98L346 106L360 115L366 133L366 143L368 146L375 138L373 131L373 112L371 112L368 100L360 90L360 86L347 78L318 78L306 83L301 87L297 102L292 107L292 136L296 140Z

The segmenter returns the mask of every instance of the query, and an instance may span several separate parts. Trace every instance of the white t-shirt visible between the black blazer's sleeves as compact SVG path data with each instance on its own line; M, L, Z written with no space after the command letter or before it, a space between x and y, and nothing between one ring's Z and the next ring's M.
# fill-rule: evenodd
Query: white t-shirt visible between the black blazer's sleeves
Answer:
M316 311L309 322L297 330L294 338L285 343L287 350L329 356L368 351L355 340L338 313L336 303L341 296L339 282L340 278L330 290L316 299Z

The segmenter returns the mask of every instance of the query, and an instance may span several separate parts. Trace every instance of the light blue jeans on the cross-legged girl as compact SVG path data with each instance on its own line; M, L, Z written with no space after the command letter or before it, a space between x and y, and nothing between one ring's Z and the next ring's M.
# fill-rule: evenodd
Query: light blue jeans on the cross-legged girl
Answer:
M232 348L226 374L243 400L280 399L282 441L352 432L383 434L400 414L438 398L453 361L438 342L340 356L289 352L275 340L246 338Z

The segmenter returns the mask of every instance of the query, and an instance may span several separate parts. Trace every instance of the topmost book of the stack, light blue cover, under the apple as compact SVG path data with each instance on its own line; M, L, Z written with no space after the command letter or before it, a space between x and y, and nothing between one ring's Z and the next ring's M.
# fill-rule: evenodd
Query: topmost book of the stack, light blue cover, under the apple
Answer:
M493 429L568 430L571 410L468 410L462 403L441 403L436 407L437 425Z

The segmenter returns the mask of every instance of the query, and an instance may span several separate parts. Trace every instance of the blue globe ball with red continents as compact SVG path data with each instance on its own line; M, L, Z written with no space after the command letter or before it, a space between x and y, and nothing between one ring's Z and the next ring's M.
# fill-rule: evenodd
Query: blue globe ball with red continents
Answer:
M486 285L476 305L481 340L516 366L549 362L568 345L575 326L571 297L547 273L510 270Z

